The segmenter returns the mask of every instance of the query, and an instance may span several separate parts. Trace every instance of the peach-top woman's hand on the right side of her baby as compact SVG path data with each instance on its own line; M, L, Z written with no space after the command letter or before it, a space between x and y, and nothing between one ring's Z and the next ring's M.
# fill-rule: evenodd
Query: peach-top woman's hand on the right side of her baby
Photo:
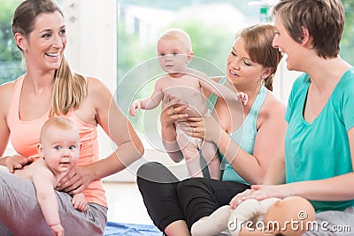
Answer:
M56 190L68 194L80 194L94 180L94 172L89 165L76 166L60 179Z

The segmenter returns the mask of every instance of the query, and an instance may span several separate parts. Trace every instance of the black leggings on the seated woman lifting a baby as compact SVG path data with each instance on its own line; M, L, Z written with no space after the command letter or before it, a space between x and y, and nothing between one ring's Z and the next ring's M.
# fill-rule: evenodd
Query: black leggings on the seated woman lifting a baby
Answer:
M192 178L180 181L163 164L142 164L137 185L153 223L161 232L177 220L189 229L200 218L227 205L235 194L250 186L216 179Z

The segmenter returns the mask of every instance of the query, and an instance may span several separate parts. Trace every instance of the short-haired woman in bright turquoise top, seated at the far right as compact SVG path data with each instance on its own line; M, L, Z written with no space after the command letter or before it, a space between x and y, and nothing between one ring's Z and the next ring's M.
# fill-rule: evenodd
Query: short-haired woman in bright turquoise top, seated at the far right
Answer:
M354 68L339 57L342 3L283 0L273 13L273 46L288 54L289 70L304 74L289 96L284 151L275 157L265 185L233 202L299 195L317 212L318 227L305 235L353 235Z

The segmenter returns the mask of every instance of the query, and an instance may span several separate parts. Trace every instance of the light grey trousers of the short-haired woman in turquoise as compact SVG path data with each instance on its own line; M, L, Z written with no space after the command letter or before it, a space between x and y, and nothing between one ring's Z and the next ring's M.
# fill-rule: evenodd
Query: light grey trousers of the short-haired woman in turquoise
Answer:
M354 208L319 212L316 214L316 222L318 224L314 230L303 236L354 235Z

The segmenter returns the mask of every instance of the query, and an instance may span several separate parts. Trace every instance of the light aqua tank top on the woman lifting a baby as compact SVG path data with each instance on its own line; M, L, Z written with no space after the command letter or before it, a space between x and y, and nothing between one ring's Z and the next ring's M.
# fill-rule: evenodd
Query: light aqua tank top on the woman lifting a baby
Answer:
M223 78L219 81L219 83L221 84L225 84L225 82L226 78ZM257 136L256 122L258 118L258 112L262 107L263 102L265 101L266 93L266 87L262 86L259 89L256 100L250 108L248 116L244 119L242 126L234 133L230 134L230 137L240 146L240 148L242 148L245 152L250 153L250 155L253 155L254 143ZM212 104L215 104L217 100L217 95L212 94L209 97L209 101ZM219 156L221 158L221 167L223 169L221 176L222 180L235 181L249 185L249 183L246 180L242 179L242 177L234 170L234 168L227 162L227 159L222 156L221 153L219 153Z

